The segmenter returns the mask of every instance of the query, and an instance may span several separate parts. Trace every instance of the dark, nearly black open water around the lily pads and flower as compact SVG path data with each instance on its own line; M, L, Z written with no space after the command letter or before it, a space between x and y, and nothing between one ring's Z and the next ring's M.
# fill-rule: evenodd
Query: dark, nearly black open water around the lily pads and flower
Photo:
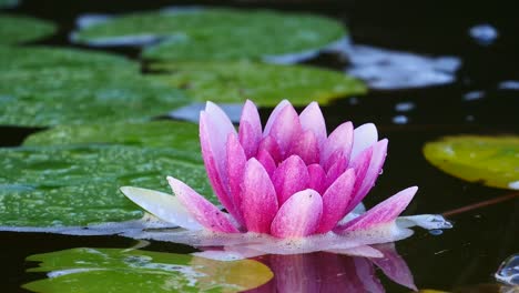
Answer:
M180 1L186 4L185 1ZM193 4L194 2L190 2ZM200 3L200 2L196 2ZM205 4L213 2L203 2ZM67 34L77 16L84 12L125 12L179 4L174 1L24 1L12 9L60 23L60 34L43 41L67 44ZM449 176L431 166L423 156L425 142L458 133L503 134L519 132L519 91L499 89L506 80L519 80L519 38L513 6L501 2L465 1L297 1L218 2L234 7L267 7L289 11L311 11L339 18L348 26L354 42L411 51L420 54L456 55L461 59L456 82L447 85L407 90L372 90L366 97L338 100L324 108L329 129L342 121L356 124L375 122L387 137L389 155L385 172L367 198L367 205L391 192L418 185L418 196L408 214L445 213L461 206L488 201L511 191L485 188ZM481 46L469 36L476 24L491 24L499 33L493 43ZM115 50L134 57L131 50ZM340 68L330 55L308 61L312 64ZM470 100L467 93L481 91ZM408 112L396 104L413 103ZM264 113L268 111L265 110ZM395 117L405 115L406 123ZM0 144L17 145L32 129L0 128ZM448 216L455 228L441 235L418 231L398 242L397 250L407 261L419 289L451 291L495 283L493 273L501 261L519 251L519 200L509 199L480 209ZM128 247L133 240L118 236L68 236L39 233L0 232L0 274L2 292L22 291L20 285L40 279L24 271L33 264L24 259L34 253L93 246ZM146 249L164 252L191 252L189 246L152 242ZM381 276L381 274L380 274ZM408 292L381 276L387 292Z

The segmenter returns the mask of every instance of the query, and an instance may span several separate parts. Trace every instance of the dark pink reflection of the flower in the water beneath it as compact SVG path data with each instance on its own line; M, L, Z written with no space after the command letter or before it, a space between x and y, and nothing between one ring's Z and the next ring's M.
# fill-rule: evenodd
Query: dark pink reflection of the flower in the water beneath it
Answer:
M376 267L391 281L416 291L413 274L393 243L380 244L376 249L384 253L384 257L327 252L262 256L258 260L271 267L274 279L250 292L385 292Z

